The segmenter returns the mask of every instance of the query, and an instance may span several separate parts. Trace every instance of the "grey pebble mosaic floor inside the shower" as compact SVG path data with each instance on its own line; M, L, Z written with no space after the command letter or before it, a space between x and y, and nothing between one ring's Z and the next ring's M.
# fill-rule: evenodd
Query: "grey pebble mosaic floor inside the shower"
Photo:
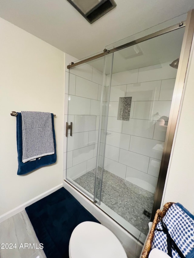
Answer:
M98 174L100 174L98 172ZM97 189L100 179L97 177ZM77 178L75 182L94 194L95 169ZM99 193L96 193L99 196ZM101 201L122 216L142 233L147 234L150 219L143 211L152 212L154 194L130 183L107 170L103 170Z

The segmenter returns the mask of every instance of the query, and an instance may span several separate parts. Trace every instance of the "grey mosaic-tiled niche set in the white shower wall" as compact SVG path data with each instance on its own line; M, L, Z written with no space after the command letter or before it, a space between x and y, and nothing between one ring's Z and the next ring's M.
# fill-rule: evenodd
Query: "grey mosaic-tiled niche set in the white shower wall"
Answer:
M132 97L119 97L117 120L129 121Z

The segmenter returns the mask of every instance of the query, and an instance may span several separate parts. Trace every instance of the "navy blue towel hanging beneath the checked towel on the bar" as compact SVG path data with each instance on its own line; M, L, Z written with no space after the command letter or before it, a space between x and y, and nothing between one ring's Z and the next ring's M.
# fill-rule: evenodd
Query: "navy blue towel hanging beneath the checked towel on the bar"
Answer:
M23 175L27 174L37 168L40 168L42 166L50 165L56 162L57 156L56 156L56 141L55 141L55 130L54 130L54 116L53 114L51 115L51 126L52 126L52 136L53 136L53 145L54 145L54 153L53 150L51 152L48 152L48 148L45 152L41 152L39 154L39 158L33 158L32 156L30 157L29 160L35 159L33 161L28 161L28 162L22 162L22 114L17 113L18 115L16 116L17 119L17 150L18 150L18 175ZM34 136L35 138L35 136ZM51 145L49 144L49 147ZM29 147L31 148L31 146ZM42 148L41 148L42 150ZM50 148L49 148L50 150ZM48 153L47 155L44 155ZM53 154L49 154L53 153ZM36 156L36 155L35 155ZM41 158L40 158L41 157Z

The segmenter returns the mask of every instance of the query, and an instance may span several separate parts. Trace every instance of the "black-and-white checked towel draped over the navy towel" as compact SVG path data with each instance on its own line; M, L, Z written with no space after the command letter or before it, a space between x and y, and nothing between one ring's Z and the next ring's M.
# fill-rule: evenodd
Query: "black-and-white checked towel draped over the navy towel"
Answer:
M22 111L22 162L55 153L51 113Z

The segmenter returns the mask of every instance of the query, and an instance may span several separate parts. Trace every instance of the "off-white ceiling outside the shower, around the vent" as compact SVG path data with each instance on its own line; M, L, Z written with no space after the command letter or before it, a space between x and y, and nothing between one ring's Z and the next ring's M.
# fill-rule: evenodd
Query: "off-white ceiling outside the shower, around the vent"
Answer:
M67 0L0 0L0 17L81 59L194 8L193 0L115 2L117 6L93 24Z

